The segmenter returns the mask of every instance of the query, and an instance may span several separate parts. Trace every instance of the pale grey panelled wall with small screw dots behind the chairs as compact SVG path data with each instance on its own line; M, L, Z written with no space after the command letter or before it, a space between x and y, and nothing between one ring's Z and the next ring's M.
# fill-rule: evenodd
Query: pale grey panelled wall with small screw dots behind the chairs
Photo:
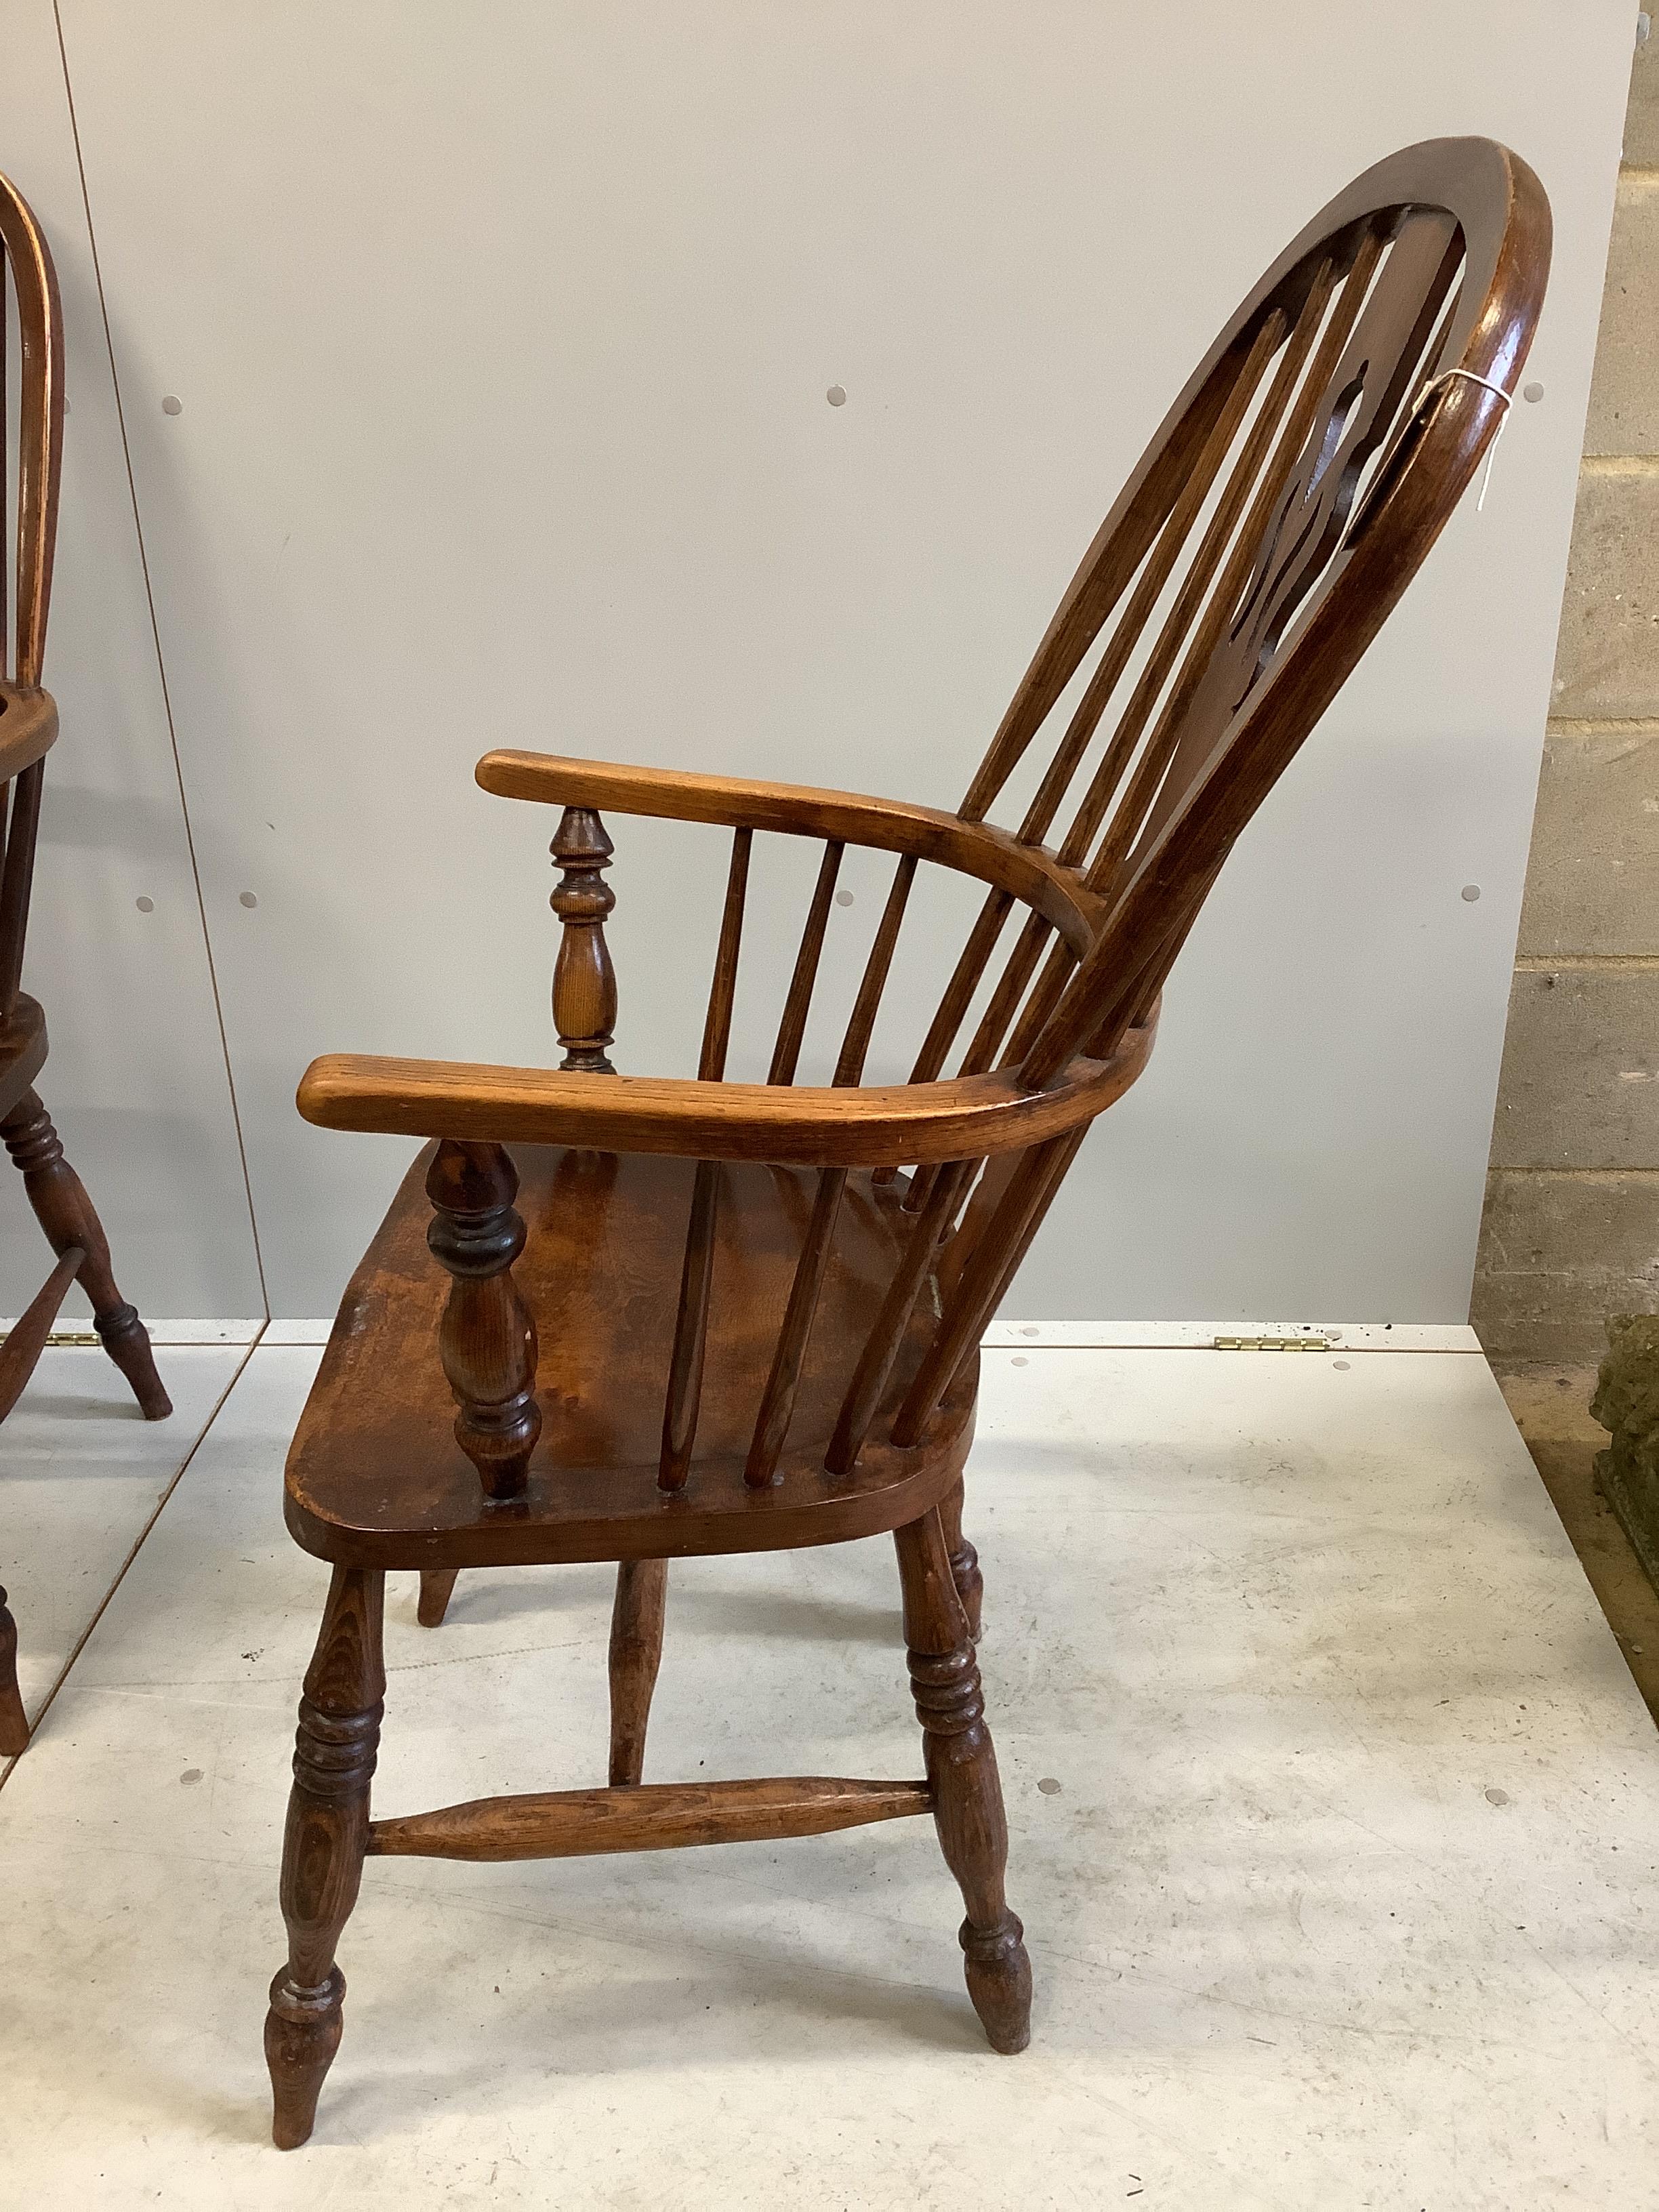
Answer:
M153 1314L257 1314L250 1221L270 1310L332 1310L409 1148L305 1128L314 1053L551 1057L553 818L484 799L478 752L951 805L1279 246L1398 144L1524 153L1544 403L1230 865L1011 1301L1464 1316L1626 0L60 13L62 55L51 0L0 0L0 166L73 349L31 978ZM686 1071L723 836L611 830L617 1060ZM843 991L876 876L849 885ZM0 1206L15 1310L35 1254Z

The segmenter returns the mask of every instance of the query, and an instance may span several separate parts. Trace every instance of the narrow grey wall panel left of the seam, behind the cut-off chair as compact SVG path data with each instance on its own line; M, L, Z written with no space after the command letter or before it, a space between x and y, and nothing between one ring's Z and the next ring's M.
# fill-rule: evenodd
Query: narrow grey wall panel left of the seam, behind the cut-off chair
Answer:
M248 1192L168 737L51 0L0 4L0 166L64 292L69 425L46 768L24 984L46 1006L40 1091L150 1316L259 1314ZM137 900L153 902L139 914ZM0 1312L51 1254L0 1168ZM75 1294L69 1312L84 1310Z

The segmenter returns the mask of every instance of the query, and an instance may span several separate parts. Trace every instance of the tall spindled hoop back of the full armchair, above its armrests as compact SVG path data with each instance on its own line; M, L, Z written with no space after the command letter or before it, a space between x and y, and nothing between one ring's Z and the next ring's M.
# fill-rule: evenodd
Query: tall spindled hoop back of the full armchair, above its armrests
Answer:
M960 810L989 814L1082 681L1020 836L1044 838L1082 779L1060 858L1106 911L1093 953L1035 1018L1026 1004L1033 1086L1146 1011L1234 838L1425 560L1504 420L1548 246L1517 155L1409 146L1292 241L1166 416Z

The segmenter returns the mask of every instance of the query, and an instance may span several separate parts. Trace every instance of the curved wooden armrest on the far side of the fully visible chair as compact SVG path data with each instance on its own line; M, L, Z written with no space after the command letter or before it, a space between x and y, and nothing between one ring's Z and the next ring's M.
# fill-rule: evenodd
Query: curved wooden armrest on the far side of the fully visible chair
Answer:
M624 768L575 761L555 752L487 752L473 776L498 799L533 799L551 807L608 807L728 830L781 830L787 836L838 838L878 852L909 852L978 876L1035 907L1086 951L1102 900L1077 869L1062 867L1044 845L1022 845L991 823L964 823L940 807L911 807L865 792L827 792L807 783L763 783L757 776L697 776L681 768Z

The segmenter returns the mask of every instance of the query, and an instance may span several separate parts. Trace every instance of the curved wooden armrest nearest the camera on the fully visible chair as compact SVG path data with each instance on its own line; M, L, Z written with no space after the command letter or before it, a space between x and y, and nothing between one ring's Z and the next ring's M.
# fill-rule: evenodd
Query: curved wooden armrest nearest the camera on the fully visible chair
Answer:
M1121 1097L1150 1048L1152 1026L1133 1029L1110 1060L1073 1060L1051 1091L1022 1091L1006 1073L814 1091L330 1053L301 1077L299 1110L319 1128L396 1137L898 1168L1060 1137Z

